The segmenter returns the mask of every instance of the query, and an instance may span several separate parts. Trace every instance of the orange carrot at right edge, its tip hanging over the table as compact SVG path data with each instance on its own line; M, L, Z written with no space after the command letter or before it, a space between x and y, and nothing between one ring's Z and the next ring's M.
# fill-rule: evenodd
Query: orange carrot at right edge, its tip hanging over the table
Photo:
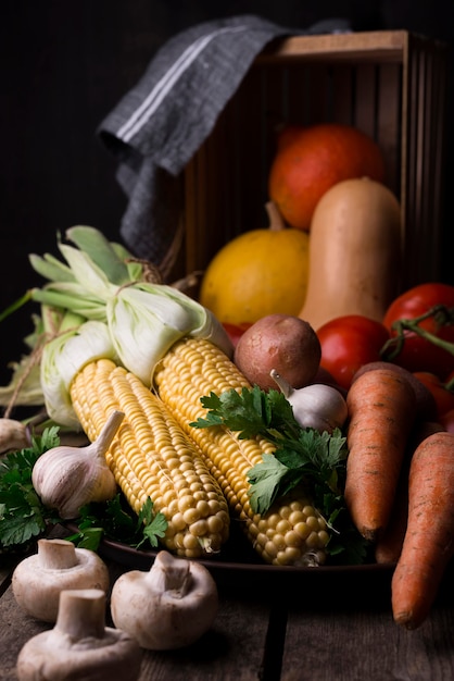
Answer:
M436 599L454 553L454 434L429 435L409 467L408 522L391 581L394 621L416 629Z

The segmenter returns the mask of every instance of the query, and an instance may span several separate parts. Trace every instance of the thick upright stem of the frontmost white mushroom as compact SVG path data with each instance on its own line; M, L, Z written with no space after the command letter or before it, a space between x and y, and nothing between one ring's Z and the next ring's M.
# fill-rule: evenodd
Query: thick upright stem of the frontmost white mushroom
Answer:
M55 629L74 641L102 639L105 622L105 593L100 589L74 589L60 594Z

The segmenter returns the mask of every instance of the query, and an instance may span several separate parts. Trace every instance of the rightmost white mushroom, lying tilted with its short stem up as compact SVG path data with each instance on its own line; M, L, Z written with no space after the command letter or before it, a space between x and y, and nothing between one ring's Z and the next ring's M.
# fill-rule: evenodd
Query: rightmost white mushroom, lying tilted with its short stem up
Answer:
M148 572L122 574L111 595L115 627L150 651L190 645L210 629L217 607L216 582L207 568L166 550L159 552Z

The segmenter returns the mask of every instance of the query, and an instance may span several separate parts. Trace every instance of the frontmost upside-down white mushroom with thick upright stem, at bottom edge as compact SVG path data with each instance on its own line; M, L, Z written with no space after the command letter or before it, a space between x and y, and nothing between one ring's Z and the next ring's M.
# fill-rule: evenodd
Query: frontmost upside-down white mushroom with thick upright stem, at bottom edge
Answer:
M18 681L138 679L140 646L105 627L105 600L100 589L63 591L54 628L29 639L18 654Z

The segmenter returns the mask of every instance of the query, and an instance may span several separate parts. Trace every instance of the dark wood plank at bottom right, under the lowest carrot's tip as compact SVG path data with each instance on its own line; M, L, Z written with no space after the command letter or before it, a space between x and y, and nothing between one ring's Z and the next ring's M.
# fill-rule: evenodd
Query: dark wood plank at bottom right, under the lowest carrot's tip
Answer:
M281 679L452 679L452 609L440 606L420 629L406 631L394 624L389 609L294 612L288 621Z

